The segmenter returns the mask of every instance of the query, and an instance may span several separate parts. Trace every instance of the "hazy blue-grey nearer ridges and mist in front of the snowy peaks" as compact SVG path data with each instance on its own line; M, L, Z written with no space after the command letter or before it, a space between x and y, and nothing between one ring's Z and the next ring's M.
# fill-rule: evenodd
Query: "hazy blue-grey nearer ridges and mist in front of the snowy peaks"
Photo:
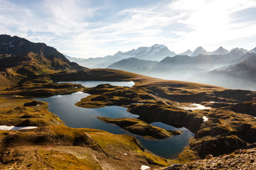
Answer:
M223 50L223 47L218 49L226 52ZM161 79L197 81L215 86L225 86L231 89L256 90L254 88L256 86L256 78L253 76L256 73L256 69L252 65L252 63L256 63L256 59L253 57L255 54L244 52L246 52L244 49L234 48L225 55L197 55L194 57L176 55L174 57L166 57L164 60L154 63L149 60L137 60L135 63L121 60L107 68L122 69ZM143 64L139 64L142 62ZM237 65L234 66L235 64ZM226 72L221 68L231 71ZM218 69L222 71L220 72ZM231 74L231 72L233 73Z

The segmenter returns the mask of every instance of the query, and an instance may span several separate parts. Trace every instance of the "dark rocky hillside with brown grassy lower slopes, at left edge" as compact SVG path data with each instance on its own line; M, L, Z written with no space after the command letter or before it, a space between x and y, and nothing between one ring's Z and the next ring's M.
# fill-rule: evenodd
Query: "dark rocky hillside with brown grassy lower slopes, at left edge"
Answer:
M0 35L0 86L16 84L26 77L80 69L86 68L44 43Z

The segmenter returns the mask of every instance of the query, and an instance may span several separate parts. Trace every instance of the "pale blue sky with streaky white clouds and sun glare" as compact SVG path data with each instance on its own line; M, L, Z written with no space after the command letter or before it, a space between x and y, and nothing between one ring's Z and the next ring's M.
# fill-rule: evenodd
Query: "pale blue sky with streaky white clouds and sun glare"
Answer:
M0 34L45 42L71 57L166 45L256 47L256 0L1 0Z

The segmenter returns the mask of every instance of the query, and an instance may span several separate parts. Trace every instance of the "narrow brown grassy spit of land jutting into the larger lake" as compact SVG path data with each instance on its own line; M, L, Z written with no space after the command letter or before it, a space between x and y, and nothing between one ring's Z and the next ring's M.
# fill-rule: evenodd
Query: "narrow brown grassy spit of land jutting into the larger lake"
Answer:
M181 135L181 131L165 130L163 128L158 128L136 118L98 118L105 123L112 123L114 125L118 125L119 127L127 130L128 132L132 132L136 135L141 135L147 139L162 140L169 138L173 135Z

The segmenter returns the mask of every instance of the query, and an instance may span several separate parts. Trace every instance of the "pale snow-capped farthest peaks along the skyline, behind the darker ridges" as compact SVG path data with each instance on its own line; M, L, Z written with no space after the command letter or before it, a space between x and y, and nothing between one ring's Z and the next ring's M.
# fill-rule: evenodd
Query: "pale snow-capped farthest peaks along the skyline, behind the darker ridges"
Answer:
M247 50L235 48L233 50L239 50L243 53L246 53ZM207 52L203 49L203 47L197 47L193 52L191 50L186 50L186 52L182 52L178 55L188 55L191 57L195 57L197 55L226 55L228 54L228 50L225 50L223 47L219 47L217 50L213 52ZM175 52L172 52L165 45L152 45L151 47L139 47L137 50L133 49L128 52L117 52L115 55L107 55L105 57L95 57L89 59L82 58L74 58L65 56L68 60L72 62L77 62L78 64L84 67L90 68L106 68L115 62L119 62L121 60L126 60L129 58L137 58L139 60L150 60L160 62L164 60L165 57L174 57L176 55Z

